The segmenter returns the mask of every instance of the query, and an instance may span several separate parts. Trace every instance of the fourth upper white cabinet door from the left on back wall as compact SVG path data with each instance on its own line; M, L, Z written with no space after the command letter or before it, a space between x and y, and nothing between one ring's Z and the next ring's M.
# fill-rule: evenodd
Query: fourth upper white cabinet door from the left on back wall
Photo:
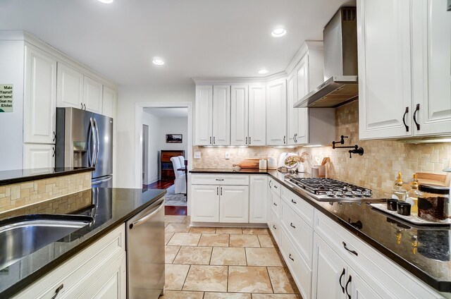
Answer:
M266 145L266 87L249 86L249 145Z

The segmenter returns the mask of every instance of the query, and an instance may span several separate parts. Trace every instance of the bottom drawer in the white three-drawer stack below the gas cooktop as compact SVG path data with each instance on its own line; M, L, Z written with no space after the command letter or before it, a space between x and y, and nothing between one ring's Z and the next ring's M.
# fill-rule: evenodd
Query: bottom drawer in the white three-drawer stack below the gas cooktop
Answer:
M311 294L311 269L308 264L302 259L295 245L291 243L284 231L280 234L280 252L282 252L290 272L295 279L296 285L302 298L310 298Z

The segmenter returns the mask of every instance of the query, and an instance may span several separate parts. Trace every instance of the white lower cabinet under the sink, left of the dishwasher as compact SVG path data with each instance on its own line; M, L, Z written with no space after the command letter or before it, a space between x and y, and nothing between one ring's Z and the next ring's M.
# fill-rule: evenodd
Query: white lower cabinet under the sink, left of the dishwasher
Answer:
M14 298L125 299L125 275L125 225L121 225Z

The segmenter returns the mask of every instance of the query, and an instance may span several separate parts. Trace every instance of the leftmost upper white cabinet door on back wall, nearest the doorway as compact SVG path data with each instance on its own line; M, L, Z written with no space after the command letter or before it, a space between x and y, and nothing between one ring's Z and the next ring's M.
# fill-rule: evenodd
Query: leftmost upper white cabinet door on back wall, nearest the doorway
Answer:
M196 86L194 145L213 144L213 87Z

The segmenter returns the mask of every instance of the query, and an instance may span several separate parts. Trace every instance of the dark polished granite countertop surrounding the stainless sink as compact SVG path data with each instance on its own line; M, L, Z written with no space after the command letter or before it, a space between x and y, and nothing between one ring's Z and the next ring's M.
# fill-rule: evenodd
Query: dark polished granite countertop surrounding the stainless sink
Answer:
M166 190L92 188L0 214L0 226L11 217L30 214L80 214L94 218L91 224L0 269L0 298L22 291L164 194Z

